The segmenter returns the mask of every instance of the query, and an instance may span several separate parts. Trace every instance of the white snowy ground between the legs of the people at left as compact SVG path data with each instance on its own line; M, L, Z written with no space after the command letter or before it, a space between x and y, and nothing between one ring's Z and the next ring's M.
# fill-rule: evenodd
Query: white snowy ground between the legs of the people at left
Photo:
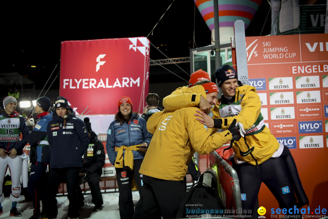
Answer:
M133 191L133 202L134 205L139 200L139 192ZM79 218L108 218L108 219L119 219L120 213L118 211L118 192L115 193L103 193L103 200L104 200L104 208L101 211L93 211L94 205L91 202L91 194L87 193L84 195L84 203L85 205L80 210L80 217ZM17 208L19 208L19 212L22 213L22 217L20 219L28 219L33 214L33 204L32 202L26 202L24 196L21 196L22 200L17 203ZM69 201L67 196L58 195L57 196L58 202L58 215L57 219L67 219L67 211ZM5 198L5 201L1 203L3 207L3 214L0 215L0 218L14 218L9 216L11 202L9 197Z

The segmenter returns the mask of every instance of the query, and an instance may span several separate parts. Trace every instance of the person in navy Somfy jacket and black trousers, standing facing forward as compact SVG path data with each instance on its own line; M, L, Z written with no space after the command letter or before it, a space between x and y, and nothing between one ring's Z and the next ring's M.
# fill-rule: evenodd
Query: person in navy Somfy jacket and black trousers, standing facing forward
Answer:
M63 178L66 179L67 197L70 201L67 216L79 216L76 185L82 168L82 155L89 145L89 135L85 123L76 118L71 110L67 99L59 97L55 102L55 113L47 126L47 137L51 147L46 192L46 217L49 219L57 217L56 193Z

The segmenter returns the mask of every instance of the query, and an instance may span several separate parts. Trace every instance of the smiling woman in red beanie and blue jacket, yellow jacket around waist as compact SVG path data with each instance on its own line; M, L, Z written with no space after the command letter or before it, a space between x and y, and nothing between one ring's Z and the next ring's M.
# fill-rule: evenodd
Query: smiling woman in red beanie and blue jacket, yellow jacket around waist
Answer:
M117 106L119 111L107 131L106 150L116 170L121 219L140 218L142 200L139 199L134 210L131 184L134 177L142 197L142 174L139 169L152 135L147 131L146 121L132 112L129 97L122 97Z

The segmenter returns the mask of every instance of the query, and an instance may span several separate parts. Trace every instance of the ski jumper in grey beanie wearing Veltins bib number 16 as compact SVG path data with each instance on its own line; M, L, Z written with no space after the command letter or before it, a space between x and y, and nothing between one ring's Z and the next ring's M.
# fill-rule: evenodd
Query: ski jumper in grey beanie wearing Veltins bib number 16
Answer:
M12 206L10 216L22 216L17 210L17 202L20 201L21 183L20 178L23 170L23 161L26 159L26 154L23 153L23 147L26 145L25 138L30 134L29 128L26 125L24 117L18 115L16 111L17 100L8 96L3 100L5 110L1 111L0 115L0 215L3 213L1 203L4 201L2 191L3 179L7 170L7 165L10 168L11 175L11 194L10 201ZM22 133L22 141L19 141ZM27 162L26 162L27 163ZM23 174L24 175L24 174ZM27 168L26 168L27 175ZM23 183L24 183L23 177Z

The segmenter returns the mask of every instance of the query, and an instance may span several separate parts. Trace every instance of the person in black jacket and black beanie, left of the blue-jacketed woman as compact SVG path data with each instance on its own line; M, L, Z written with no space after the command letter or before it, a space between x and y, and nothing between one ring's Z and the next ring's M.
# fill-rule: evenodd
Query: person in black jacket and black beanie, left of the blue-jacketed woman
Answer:
M88 182L91 189L94 210L98 211L102 210L102 204L104 204L99 186L99 178L102 173L102 167L105 164L105 149L103 143L98 140L97 134L92 131L88 117L84 118L84 123L89 134L89 146L88 150L84 153L82 171L79 175L83 176L85 181ZM77 194L79 201L82 201L81 206L83 206L84 197L80 186L78 186Z

